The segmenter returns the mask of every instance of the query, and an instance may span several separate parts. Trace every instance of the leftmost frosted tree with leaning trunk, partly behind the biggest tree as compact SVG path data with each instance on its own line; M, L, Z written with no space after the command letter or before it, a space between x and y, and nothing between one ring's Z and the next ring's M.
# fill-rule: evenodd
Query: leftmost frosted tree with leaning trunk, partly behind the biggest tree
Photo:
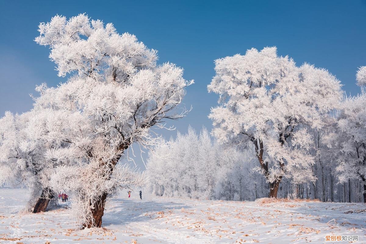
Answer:
M0 119L0 181L17 179L30 189L31 199L26 210L45 211L55 195L50 175L67 158L50 157L50 152L64 147L66 138L63 136L69 137L75 121L81 121L77 113L49 109L21 115L7 112ZM62 133L57 133L55 128Z

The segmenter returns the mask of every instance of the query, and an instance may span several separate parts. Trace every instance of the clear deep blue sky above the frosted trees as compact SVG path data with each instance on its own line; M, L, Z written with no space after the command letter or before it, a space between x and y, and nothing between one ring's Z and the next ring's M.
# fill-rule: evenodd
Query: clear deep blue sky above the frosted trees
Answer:
M112 22L122 34L135 34L157 49L159 62L173 62L194 79L184 103L193 110L174 122L211 129L207 118L217 95L207 92L214 60L247 49L277 46L298 65L309 62L328 69L343 89L355 95L355 74L366 65L366 1L0 1L0 113L32 107L36 84L55 86L58 77L49 49L34 42L38 24L59 14L86 13ZM162 131L163 132L163 131ZM164 131L170 137L176 132Z

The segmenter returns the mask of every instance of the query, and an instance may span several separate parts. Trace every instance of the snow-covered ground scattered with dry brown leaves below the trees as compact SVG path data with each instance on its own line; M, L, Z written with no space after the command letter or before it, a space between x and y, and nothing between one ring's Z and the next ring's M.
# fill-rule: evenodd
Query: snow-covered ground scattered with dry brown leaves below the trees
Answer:
M107 203L104 228L79 230L65 205L20 215L27 195L0 189L0 243L333 243L327 235L358 235L354 243L366 243L363 203L141 201L136 192L130 199L122 192Z

